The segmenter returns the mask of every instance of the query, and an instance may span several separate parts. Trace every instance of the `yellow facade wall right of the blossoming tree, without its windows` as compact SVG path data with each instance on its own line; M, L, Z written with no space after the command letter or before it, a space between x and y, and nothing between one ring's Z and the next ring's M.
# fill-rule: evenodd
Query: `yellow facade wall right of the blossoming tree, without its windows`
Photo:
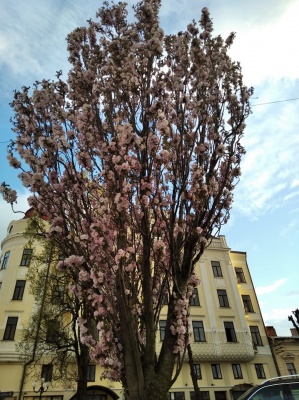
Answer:
M219 262L222 276L214 276L212 261ZM245 282L238 283L236 267L242 268ZM206 342L195 342L194 334L190 336L194 361L200 364L202 374L198 384L201 391L209 392L211 399L215 398L217 392L225 392L227 399L237 397L239 390L277 375L247 266L246 253L230 251L225 237L221 236L214 239L206 249L196 271L201 280L198 286L200 306L190 306L190 320L202 321L206 336ZM228 307L220 307L217 290L226 291ZM242 295L250 296L252 312L245 312ZM236 342L227 341L224 322L233 323ZM260 346L254 346L252 343L251 326L258 327L262 341ZM220 379L213 377L212 364L220 366ZM240 366L242 377L234 377L233 364ZM257 377L256 364L262 366L265 373L263 377ZM189 399L188 392L191 392L193 387L187 364L175 385L173 390L184 390L186 400ZM235 394L231 392L232 388L235 389Z

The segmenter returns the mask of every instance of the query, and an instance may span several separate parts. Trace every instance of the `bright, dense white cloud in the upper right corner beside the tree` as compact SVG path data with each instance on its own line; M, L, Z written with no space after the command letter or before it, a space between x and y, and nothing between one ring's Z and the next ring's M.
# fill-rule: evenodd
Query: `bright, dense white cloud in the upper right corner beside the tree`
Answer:
M266 78L298 78L299 53L294 48L294 39L299 36L298 13L296 1L271 21L265 14L263 24L240 27L232 55L241 61L249 85Z

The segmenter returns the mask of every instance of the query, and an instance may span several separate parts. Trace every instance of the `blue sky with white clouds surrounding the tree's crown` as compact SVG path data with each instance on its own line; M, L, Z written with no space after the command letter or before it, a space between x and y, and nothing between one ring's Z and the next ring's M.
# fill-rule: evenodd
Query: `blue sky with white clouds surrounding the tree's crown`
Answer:
M95 18L101 5L0 0L0 182L17 189L17 210L28 208L28 193L6 160L13 90L54 78L58 70L66 77L65 38ZM244 83L255 89L242 176L221 233L232 250L247 253L265 324L288 336L288 315L299 308L299 0L162 0L162 28L166 34L184 30L203 7L215 34L236 32L230 55L241 63ZM0 241L9 222L21 217L0 200Z

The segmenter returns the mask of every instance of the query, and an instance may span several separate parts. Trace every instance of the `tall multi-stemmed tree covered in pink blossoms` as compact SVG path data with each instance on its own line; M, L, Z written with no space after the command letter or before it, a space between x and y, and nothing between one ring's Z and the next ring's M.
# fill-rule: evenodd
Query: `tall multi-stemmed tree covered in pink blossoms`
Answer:
M194 267L229 218L253 93L228 55L234 34L213 37L204 8L198 24L164 35L160 3L139 2L129 23L124 3L104 2L67 38L67 81L58 74L12 102L10 164L95 320L97 331L78 320L81 341L130 400L160 400L186 350Z

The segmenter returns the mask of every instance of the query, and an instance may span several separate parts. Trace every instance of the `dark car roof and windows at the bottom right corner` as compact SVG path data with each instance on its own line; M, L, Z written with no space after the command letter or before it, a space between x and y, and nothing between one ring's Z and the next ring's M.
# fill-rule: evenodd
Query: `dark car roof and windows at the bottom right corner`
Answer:
M299 375L267 379L247 390L238 400L299 400Z

